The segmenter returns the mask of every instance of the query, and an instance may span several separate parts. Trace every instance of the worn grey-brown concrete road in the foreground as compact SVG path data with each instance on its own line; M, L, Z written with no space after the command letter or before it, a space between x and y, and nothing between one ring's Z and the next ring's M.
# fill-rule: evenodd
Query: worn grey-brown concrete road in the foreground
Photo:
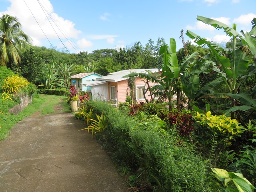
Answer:
M127 192L106 151L72 113L34 114L0 142L1 192Z

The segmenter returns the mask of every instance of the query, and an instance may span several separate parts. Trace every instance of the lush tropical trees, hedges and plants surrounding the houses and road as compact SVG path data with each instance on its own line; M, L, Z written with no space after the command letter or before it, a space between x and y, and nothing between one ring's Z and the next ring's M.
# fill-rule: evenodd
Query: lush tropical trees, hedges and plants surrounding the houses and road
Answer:
M136 42L120 50L66 54L31 46L20 28L12 29L16 18L3 16L0 26L9 27L12 36L22 36L9 38L6 46L0 41L1 47L10 49L0 49L0 139L25 116L36 111L52 113L52 106L63 99L68 111L70 101L80 100L75 116L84 121L81 131L92 133L108 150L131 191L255 191L256 18L251 31L240 33L235 24L197 19L232 39L222 47L187 31L198 46L182 39L184 48L176 50L175 39L167 45L158 38L156 44L150 39L145 46ZM5 30L0 28L0 37ZM21 49L8 55L14 50L12 45ZM127 76L131 81L140 76L145 84L155 82L145 94L157 100L136 102L127 92L126 102L114 108L107 102L91 101L88 93L76 92L68 80L80 72L106 75L132 68L162 71ZM14 116L8 109L20 102L17 93L34 99ZM38 93L62 96L38 97Z

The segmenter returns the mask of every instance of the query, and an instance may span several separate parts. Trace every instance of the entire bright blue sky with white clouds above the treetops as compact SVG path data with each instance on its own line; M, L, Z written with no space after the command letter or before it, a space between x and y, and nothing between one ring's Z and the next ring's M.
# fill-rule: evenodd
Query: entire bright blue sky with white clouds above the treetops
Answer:
M138 41L145 45L158 37L167 44L169 38L175 38L179 49L181 29L226 42L229 38L223 30L198 22L196 16L215 18L229 26L236 23L238 31L248 31L256 17L255 8L255 0L0 0L0 16L16 16L34 45L48 48L52 44L58 49L65 45L72 53L122 48ZM184 38L189 40L185 34Z

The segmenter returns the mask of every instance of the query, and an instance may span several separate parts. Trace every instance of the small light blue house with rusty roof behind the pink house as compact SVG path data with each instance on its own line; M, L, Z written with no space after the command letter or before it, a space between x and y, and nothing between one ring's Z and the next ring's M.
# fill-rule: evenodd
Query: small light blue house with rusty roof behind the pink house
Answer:
M69 78L71 79L71 85L76 86L80 91L91 91L91 87L81 85L81 83L86 83L90 81L94 81L95 78L102 77L102 75L98 73L79 73L76 75L72 75Z

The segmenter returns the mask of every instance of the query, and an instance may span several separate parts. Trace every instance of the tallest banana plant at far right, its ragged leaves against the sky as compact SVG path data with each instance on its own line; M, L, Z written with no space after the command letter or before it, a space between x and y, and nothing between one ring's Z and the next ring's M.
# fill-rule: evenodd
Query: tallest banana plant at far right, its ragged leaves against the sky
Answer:
M232 37L232 59L229 60L229 58L222 54L223 48L219 48L213 42L208 41L206 38L202 38L189 30L186 32L186 35L191 39L194 39L194 42L199 46L206 45L209 47L211 56L214 56L221 65L221 68L213 66L214 70L221 75L229 93L239 94L240 87L244 84L246 79L256 72L255 65L251 65L249 67L248 62L250 58L253 58L253 60L256 59L256 19L254 18L252 21L252 30L246 33L241 31L241 34L236 31L236 24L233 24L231 28L230 26L211 18L197 16L197 20L202 21L205 24L209 24L216 29L223 29L228 36ZM236 44L237 38L240 39L241 42ZM232 97L231 107L234 107L235 105L236 99ZM233 112L231 115L232 118L235 118L235 114Z

